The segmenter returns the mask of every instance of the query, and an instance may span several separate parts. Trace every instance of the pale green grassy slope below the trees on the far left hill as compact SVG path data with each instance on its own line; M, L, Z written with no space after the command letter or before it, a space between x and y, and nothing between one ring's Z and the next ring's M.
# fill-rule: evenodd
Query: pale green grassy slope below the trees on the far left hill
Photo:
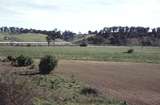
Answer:
M4 40L4 37L13 37L15 41L22 41L22 42L44 42L46 41L46 35L43 34L34 34L34 33L27 33L27 34L13 34L9 35L7 33L0 33L0 41L8 41Z

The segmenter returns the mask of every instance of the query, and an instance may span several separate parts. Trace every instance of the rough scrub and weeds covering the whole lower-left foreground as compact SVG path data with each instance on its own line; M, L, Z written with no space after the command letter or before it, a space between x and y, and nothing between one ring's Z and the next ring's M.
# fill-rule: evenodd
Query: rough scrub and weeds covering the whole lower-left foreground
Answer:
M19 76L0 73L0 103L2 105L126 105L84 89L74 76L63 75ZM5 76L6 75L6 76ZM87 90L88 95L81 94ZM92 90L92 89L91 89Z

